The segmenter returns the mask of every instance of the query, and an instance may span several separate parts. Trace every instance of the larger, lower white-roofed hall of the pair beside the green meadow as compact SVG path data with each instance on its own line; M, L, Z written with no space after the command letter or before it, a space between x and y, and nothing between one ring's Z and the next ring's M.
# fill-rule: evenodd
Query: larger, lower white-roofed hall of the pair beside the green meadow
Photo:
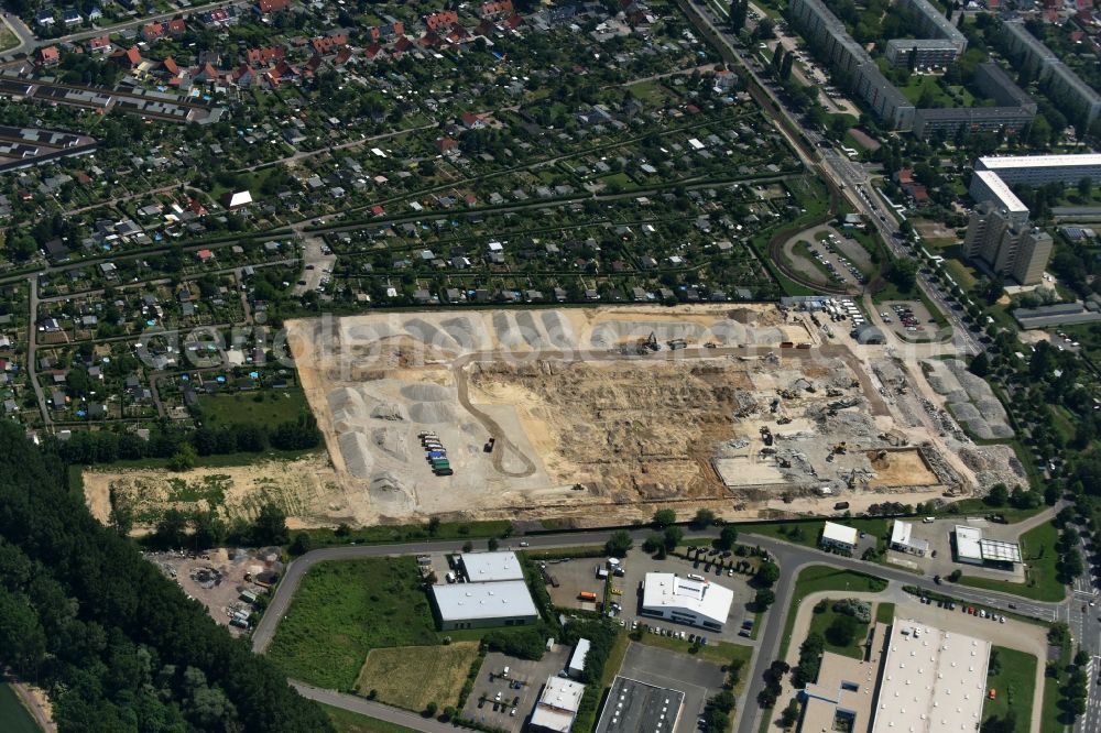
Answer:
M523 580L433 586L432 600L443 631L524 626L539 619Z

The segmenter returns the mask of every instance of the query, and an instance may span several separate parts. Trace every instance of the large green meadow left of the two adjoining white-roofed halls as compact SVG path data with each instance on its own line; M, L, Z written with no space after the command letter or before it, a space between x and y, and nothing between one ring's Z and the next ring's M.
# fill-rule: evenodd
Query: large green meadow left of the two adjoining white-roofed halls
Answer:
M288 677L351 690L371 649L437 643L414 558L336 560L302 579L268 656Z

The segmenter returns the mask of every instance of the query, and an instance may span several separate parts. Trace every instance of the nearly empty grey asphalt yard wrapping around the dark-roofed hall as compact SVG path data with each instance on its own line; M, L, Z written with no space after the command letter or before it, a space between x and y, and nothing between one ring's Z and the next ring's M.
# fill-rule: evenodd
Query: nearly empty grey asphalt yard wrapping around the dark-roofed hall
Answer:
M690 733L704 712L707 699L722 689L726 677L719 665L655 646L632 642L628 647L620 675L631 679L680 690L685 693L684 710L676 733Z

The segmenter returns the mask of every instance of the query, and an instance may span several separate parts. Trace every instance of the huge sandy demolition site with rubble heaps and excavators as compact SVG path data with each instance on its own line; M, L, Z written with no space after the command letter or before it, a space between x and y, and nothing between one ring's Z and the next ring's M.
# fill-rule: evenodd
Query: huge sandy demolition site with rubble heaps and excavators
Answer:
M1015 473L930 400L916 362L826 339L809 314L775 305L287 327L355 522L860 511L970 494L975 464L983 479Z

